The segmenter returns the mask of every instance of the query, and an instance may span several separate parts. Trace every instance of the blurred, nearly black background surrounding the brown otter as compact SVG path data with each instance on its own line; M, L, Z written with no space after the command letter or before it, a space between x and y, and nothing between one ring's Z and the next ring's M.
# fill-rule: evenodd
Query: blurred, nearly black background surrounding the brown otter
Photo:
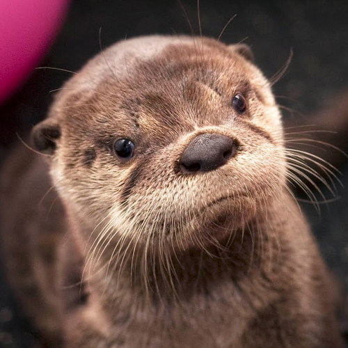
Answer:
M49 0L47 0L49 1ZM197 3L182 0L198 34ZM230 17L237 15L223 33L224 42L244 40L267 77L273 76L294 56L285 76L274 86L279 104L294 111L284 117L306 117L333 100L348 86L348 1L200 1L203 35L217 38ZM54 46L41 66L76 71L102 46L148 33L191 33L177 0L74 0ZM1 57L0 57L1 64ZM1 65L0 65L1 68ZM45 118L52 100L70 74L36 70L31 79L0 107L0 161L17 135L23 136ZM0 163L1 164L1 163ZM348 163L342 164L342 182L348 184ZM303 205L329 267L348 285L348 191L339 189L340 200L324 205L320 215ZM20 316L20 308L0 279L0 347L31 347L33 336Z

